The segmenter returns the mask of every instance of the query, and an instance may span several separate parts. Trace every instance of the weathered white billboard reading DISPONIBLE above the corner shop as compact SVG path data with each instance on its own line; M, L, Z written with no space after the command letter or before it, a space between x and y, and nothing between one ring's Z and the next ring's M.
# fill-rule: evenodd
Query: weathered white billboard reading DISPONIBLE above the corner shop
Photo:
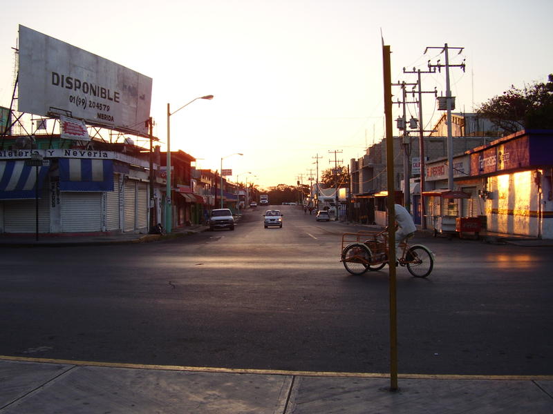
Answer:
M150 77L19 25L19 111L147 135Z

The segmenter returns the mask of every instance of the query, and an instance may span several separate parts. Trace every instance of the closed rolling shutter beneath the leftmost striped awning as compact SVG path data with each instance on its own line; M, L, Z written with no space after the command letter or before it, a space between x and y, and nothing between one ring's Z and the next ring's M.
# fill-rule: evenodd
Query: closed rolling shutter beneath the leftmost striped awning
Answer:
M34 199L4 201L4 232L35 233L37 210ZM39 233L50 233L50 204L48 193L43 190L39 199Z

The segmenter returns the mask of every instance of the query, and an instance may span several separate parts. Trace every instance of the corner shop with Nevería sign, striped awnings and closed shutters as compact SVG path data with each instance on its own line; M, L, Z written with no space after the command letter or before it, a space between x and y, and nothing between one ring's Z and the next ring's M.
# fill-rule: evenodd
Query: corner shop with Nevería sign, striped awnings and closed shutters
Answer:
M32 153L47 165L26 165ZM145 233L148 174L140 164L111 151L2 151L0 232L34 233L38 199L39 233Z

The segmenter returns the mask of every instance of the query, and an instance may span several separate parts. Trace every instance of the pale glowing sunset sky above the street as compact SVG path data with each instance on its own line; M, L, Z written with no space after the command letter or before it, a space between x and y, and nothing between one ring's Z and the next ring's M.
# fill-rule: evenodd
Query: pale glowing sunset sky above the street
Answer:
M444 63L445 43L464 48L450 53L450 63L466 64L450 72L456 112L553 72L550 0L19 0L1 14L0 106L10 106L21 24L151 77L162 150L167 103L214 95L171 116L171 150L196 157L198 168L219 170L223 158L229 179L261 188L307 184L315 157L321 175L335 151L348 165L382 139L382 39L394 83L416 81L403 68ZM425 55L429 46L438 49ZM422 89L434 88L445 95L443 70L422 75ZM441 112L431 94L422 105L430 129ZM395 119L401 107L393 111ZM418 117L414 104L408 111Z

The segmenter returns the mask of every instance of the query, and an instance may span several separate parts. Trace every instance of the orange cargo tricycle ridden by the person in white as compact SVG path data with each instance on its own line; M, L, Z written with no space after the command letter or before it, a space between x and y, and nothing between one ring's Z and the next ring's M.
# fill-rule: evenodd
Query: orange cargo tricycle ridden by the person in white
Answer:
M360 231L342 235L340 262L344 263L349 273L362 275L367 270L380 270L389 264L387 231ZM407 239L400 243L400 247L402 255L396 258L397 264L406 267L415 277L428 277L434 267L432 251L422 244L409 246Z

